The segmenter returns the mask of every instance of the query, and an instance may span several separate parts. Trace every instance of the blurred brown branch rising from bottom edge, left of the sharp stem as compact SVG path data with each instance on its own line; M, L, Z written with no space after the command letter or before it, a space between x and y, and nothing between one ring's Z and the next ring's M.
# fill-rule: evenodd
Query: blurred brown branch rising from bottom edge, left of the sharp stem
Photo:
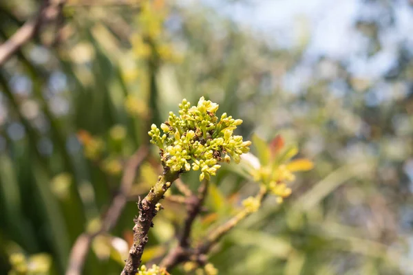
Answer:
M136 169L148 154L147 146L141 146L138 151L132 155L125 164L125 171L120 182L120 189L118 194L112 200L109 209L107 210L103 224L98 232L93 234L83 233L76 239L72 251L70 252L69 265L67 266L66 275L80 275L83 270L83 265L89 252L90 245L93 239L98 235L112 230L120 214L125 208L127 202L127 194L131 189L134 179L136 177Z

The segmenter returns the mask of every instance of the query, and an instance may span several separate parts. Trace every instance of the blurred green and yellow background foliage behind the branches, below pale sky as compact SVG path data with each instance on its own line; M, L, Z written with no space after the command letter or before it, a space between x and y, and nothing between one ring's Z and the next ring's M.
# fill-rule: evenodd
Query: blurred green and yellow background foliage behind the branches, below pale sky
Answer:
M215 248L220 274L412 272L413 52L405 41L389 72L366 78L350 62L309 63L306 39L269 45L204 5L81 2L67 1L59 43L52 45L54 29L43 30L0 68L0 274L28 267L44 274L45 266L63 274L76 237L98 228L125 159L149 142L151 123L177 111L182 98L201 96L242 118L237 134L246 140L281 134L315 163L290 184L285 203L269 198ZM366 2L396 16L396 1ZM3 1L0 41L38 4ZM394 20L354 21L366 58L380 53L380 34ZM153 150L131 195L156 179ZM195 239L231 217L254 188L234 169L213 178ZM184 182L195 190L197 177ZM165 208L144 262L165 254L179 230L184 207ZM136 213L131 201L111 235L94 240L84 274L120 273Z

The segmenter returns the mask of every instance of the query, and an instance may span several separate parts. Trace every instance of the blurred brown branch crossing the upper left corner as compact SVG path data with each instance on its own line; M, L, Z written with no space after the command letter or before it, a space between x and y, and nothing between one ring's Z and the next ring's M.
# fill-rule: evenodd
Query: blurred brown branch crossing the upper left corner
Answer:
M10 39L0 45L0 66L6 63L25 43L36 36L43 23L59 17L64 4L65 0L44 0L36 17L24 23Z

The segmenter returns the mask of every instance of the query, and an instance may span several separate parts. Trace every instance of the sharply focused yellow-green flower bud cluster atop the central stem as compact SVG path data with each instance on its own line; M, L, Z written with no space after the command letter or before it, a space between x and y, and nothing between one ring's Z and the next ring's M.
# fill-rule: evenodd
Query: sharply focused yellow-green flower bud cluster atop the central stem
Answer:
M149 136L151 143L158 145L162 163L173 171L201 170L200 181L215 175L221 167L219 162L236 163L240 155L249 151L251 142L242 140L242 136L233 135L233 131L242 124L232 116L215 115L218 104L200 98L197 106L192 106L186 99L179 104L179 116L173 112L160 125L163 134L152 124Z

